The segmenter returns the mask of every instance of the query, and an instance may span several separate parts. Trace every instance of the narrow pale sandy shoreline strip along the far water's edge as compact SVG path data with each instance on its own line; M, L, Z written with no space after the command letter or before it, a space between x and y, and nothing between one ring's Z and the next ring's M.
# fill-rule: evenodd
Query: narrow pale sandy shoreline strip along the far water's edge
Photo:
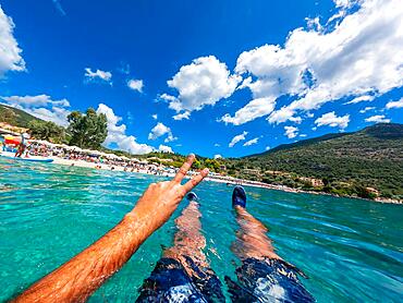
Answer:
M70 166L70 167L82 167L82 168L89 168L89 169L97 169L96 166L98 166L100 170L112 170L112 171L122 171L122 172L133 172L133 173L145 173L149 175L160 175L160 177L173 177L172 173L162 173L162 174L156 174L156 173L149 173L147 170L137 170L137 171L130 171L125 170L121 166L113 166L113 169L111 169L112 166L106 165L106 163L94 163L94 162L87 162L83 160L70 160L70 159L63 159L59 157L51 157L53 161L51 163L54 165L62 165L62 166ZM378 203L388 203L388 204L403 204L403 201L395 201L395 199L387 199L387 198L375 198L375 199L367 199L367 198L361 198L356 196L340 196L334 195L330 193L325 192L315 192L315 191L305 191L300 189L292 189L285 185L274 185L274 184L267 184L259 181L251 181L245 179L235 179L231 177L224 178L215 178L211 175L208 175L205 178L205 181L209 182L216 182L216 183L225 183L225 184L233 184L233 185L246 185L246 186L253 186L253 187L259 187L259 189L268 189L268 190L276 190L276 191L282 191L288 193L305 193L305 194L313 194L313 195L323 195L323 196L333 196L333 197L349 197L349 198L358 198L358 199L365 199L370 202L378 202Z

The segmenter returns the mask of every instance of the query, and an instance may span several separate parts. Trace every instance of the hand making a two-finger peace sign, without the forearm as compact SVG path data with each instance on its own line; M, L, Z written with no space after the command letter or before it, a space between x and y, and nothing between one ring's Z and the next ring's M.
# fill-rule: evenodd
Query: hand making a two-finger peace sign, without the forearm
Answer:
M191 154L171 181L151 183L132 213L135 211L137 216L142 214L141 217L151 220L156 229L162 226L171 217L186 193L192 191L208 174L208 169L204 169L182 185L181 182L194 160L195 155Z

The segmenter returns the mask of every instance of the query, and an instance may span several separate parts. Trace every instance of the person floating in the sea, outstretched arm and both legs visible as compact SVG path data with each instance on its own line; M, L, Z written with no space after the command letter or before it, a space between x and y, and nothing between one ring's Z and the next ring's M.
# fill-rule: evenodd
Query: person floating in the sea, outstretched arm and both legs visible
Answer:
M152 183L135 207L112 230L53 270L14 302L83 302L115 274L139 245L171 217L183 197L208 174L202 170L185 184L194 155L171 181ZM150 277L144 281L137 302L224 302L221 282L203 250L197 196L187 194L188 206L175 220L174 245L164 250ZM240 230L232 250L242 260L237 282L225 277L234 302L312 302L294 266L282 260L266 235L267 229L246 209L246 194L236 186L232 205Z

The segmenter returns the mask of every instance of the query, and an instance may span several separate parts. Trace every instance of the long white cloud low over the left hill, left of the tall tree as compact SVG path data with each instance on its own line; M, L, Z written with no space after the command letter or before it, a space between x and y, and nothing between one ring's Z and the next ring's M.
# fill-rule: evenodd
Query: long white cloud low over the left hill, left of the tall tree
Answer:
M66 126L68 116L70 114L70 102L63 98L60 100L52 100L48 95L37 96L8 96L0 97L3 104L24 110L32 116L51 121L59 125Z

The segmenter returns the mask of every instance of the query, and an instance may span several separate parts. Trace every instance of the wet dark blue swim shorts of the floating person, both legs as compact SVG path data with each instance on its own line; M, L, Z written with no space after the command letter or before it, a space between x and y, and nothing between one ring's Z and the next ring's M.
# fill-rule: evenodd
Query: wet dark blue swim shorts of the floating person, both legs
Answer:
M185 257L194 275L173 258L161 258L139 290L136 302L225 302L215 272ZM237 282L225 277L232 302L315 302L297 275L305 275L281 259L246 258L236 268Z

